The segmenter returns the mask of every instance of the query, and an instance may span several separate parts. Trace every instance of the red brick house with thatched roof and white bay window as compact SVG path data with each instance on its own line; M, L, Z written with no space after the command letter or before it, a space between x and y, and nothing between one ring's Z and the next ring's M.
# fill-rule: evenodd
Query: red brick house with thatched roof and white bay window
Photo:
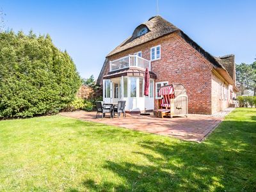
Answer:
M150 94L143 96L145 68ZM216 58L160 16L134 29L132 36L109 52L97 83L105 102L126 100L127 111L157 108L159 88L182 83L188 112L212 114L228 108L236 97L234 55Z

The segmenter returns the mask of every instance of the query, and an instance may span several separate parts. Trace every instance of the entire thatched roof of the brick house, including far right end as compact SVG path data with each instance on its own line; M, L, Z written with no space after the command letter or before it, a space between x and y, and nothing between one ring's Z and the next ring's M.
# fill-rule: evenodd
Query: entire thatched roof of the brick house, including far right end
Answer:
M142 28L147 28L148 32L144 35L138 36L137 33ZM196 49L206 60L208 60L214 68L218 68L227 76L227 79L229 79L230 84L235 84L235 74L234 69L232 69L232 65L230 63L233 62L231 56L223 56L220 58L216 58L209 54L209 52L205 51L200 45L196 44L191 38L189 38L188 35L186 35L183 31L181 31L179 28L174 26L172 23L168 22L167 20L164 20L160 16L151 17L147 22L144 22L143 24L140 24L136 29L134 29L134 32L132 33L132 36L127 38L122 44L118 45L113 51L109 52L109 54L106 56L107 58L109 56L112 56L113 54L116 54L118 52L125 51L127 49L131 49L132 47L135 47L137 45L145 44L147 42L150 42L152 40L155 40L157 38L160 38L165 35L169 35L170 33L177 32L177 34L182 37L191 47ZM230 59L231 58L231 59ZM106 62L104 63L106 65ZM102 67L102 72L103 72ZM102 78L102 72L100 72L100 76ZM100 77L99 76L99 77ZM98 79L99 80L99 79ZM233 81L233 83L231 82Z

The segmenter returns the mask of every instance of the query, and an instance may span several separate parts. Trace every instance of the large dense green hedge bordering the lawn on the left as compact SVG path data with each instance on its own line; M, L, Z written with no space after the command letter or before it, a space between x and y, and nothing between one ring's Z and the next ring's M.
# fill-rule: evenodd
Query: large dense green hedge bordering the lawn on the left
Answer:
M66 108L81 80L51 37L0 33L0 117L56 113Z

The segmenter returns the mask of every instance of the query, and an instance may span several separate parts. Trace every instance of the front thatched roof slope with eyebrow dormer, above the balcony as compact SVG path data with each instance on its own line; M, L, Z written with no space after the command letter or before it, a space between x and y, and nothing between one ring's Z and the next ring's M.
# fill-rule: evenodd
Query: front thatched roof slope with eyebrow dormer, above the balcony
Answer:
M145 35L136 36L136 32L143 27L148 29L148 33ZM175 27L173 24L167 20L164 20L160 16L151 17L147 22L140 24L140 26L134 29L132 36L127 38L124 42L122 42L122 44L118 45L118 47L116 47L113 51L109 52L107 57L178 30L179 28Z

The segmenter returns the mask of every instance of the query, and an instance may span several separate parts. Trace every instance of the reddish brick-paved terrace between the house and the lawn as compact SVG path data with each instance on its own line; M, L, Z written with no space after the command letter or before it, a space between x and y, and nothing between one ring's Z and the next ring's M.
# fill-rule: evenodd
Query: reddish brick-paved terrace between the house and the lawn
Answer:
M119 119L117 117L110 119L106 115L102 120L101 118L95 118L96 112L94 111L65 112L60 113L60 115L198 142L204 140L205 136L211 133L223 119L220 117L200 115L188 115L188 118L156 118L152 115L141 116L127 114L126 118L123 118L121 115Z

